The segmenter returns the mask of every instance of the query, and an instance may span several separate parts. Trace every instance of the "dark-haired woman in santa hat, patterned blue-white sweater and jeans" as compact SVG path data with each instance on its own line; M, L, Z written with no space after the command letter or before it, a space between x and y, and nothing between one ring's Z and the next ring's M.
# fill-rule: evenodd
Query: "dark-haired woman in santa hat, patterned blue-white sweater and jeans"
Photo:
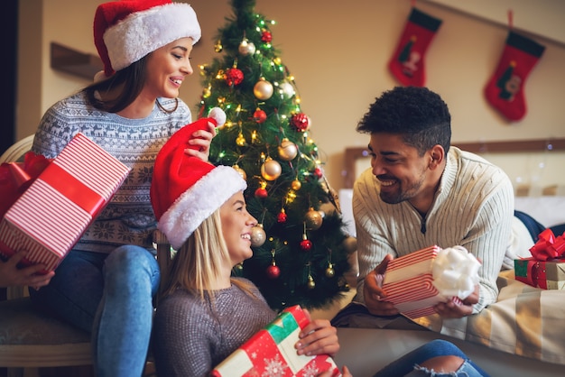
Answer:
M38 308L92 332L98 377L144 371L160 271L149 198L153 162L172 133L191 122L179 99L192 73L200 27L188 4L128 0L97 7L94 41L104 63L95 82L43 115L32 151L56 157L84 133L132 168L124 184L60 263L51 282L32 290ZM190 137L190 155L208 160L213 125Z

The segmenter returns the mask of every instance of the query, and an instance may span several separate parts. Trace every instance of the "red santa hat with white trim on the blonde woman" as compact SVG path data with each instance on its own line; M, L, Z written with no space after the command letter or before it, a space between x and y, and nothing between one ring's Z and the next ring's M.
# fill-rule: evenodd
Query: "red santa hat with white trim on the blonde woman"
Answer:
M220 126L226 114L218 107L208 118L187 124L171 136L157 154L151 182L151 204L157 228L178 250L208 216L237 191L247 188L245 179L230 166L214 166L184 151L192 133L208 129L208 122Z

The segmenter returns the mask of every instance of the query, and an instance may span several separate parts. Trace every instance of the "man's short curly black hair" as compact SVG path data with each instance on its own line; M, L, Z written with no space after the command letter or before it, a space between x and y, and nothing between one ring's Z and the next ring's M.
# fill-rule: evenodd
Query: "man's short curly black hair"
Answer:
M357 124L359 133L401 134L420 155L440 144L449 152L451 115L441 97L427 87L394 87L377 97Z

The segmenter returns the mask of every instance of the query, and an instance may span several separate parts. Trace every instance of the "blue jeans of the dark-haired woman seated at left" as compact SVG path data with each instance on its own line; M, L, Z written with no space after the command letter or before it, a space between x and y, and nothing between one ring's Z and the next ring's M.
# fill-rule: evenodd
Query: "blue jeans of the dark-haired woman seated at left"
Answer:
M154 255L125 245L112 253L73 250L34 304L92 334L97 377L141 376L160 280Z

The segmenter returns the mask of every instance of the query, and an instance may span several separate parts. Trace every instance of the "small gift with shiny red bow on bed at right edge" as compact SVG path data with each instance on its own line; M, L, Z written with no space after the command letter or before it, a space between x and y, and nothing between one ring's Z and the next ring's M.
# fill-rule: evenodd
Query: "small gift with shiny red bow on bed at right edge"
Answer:
M514 260L515 279L543 290L565 290L565 233L556 237L545 229L530 253Z

